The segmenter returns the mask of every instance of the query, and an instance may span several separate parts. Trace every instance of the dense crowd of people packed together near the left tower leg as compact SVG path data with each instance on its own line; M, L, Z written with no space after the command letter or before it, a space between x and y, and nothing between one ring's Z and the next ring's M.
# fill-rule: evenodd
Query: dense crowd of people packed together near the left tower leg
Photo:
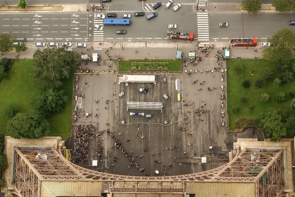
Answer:
M94 127L92 125L87 125L85 129L82 125L75 125L74 163L88 162L89 139L92 139L94 136L91 131L94 131Z

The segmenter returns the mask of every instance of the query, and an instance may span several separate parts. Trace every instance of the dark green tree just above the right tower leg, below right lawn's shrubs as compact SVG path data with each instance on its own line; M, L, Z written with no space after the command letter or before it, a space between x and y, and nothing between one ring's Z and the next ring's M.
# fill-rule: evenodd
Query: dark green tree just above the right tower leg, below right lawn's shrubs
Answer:
M280 141L282 137L287 135L286 127L281 118L276 110L271 110L263 113L259 120L258 127L265 132L265 137L270 138L271 141Z

